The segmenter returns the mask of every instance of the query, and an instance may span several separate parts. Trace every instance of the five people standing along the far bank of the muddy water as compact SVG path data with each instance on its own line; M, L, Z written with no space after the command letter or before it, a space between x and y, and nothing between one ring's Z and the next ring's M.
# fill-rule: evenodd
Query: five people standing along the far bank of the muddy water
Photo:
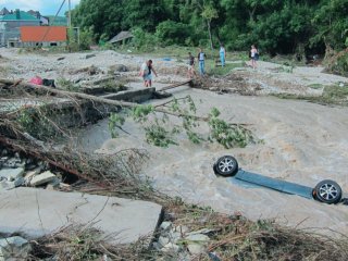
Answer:
M219 50L219 54L220 54L220 62L221 62L221 66L225 66L225 61L226 61L226 50L224 45L220 46L220 50ZM257 61L259 60L259 51L257 49L257 47L254 45L251 46L251 49L249 51L249 58L250 58L250 66L252 69L257 69ZM203 52L203 50L200 48L198 55L197 55L197 60L198 60L198 67L199 67L199 74L201 76L204 75L204 61L207 59L206 53ZM190 78L194 78L194 76L197 76L196 71L195 71L195 57L191 54L191 52L188 52L188 76ZM151 87L152 86L152 73L157 76L157 72L154 71L153 66L152 66L152 60L148 60L146 61L140 69L140 73L139 75L142 77L144 79L144 86L145 87Z

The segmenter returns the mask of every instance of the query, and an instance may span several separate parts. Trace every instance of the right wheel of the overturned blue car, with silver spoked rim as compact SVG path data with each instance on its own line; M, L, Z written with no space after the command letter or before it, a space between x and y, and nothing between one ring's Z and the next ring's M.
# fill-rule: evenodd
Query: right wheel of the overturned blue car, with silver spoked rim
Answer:
M313 197L323 203L338 203L341 199L341 188L334 181L325 179L314 187Z

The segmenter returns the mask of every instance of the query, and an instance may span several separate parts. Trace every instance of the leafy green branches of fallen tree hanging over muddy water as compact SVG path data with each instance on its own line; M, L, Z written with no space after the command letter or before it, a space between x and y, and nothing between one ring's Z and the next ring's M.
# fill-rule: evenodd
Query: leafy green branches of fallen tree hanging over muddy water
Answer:
M192 144L203 141L217 142L226 149L233 147L246 147L254 142L252 133L241 125L231 124L220 119L220 111L216 108L211 110L208 117L196 115L196 104L187 96L182 99L173 99L166 102L164 109L156 110L153 105L137 105L128 111L126 116L141 124L148 144L167 148L170 145L178 145L176 136L186 134ZM170 115L175 115L182 123L170 120ZM123 130L122 125L126 119L117 113L109 117L109 130L113 138L119 137L119 132ZM198 132L201 122L207 122L209 134L203 135Z

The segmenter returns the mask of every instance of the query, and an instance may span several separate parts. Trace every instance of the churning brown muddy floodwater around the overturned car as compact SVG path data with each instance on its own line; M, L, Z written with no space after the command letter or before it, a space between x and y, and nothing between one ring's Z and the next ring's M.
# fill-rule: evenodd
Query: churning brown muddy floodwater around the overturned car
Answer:
M224 149L217 144L192 145L179 137L179 146L157 148L146 144L144 133L133 122L111 139L108 121L85 129L80 144L89 151L111 154L125 148L144 148L150 160L144 174L163 192L210 206L225 213L241 212L251 220L275 219L278 223L348 233L348 207L328 206L266 188L244 187L216 177L212 165L223 154L234 156L244 170L310 187L322 179L334 179L348 191L348 109L331 108L272 97L217 95L182 87L175 97L190 95L199 115L216 107L234 123L250 124L262 140L246 148ZM165 100L153 100L162 103ZM175 121L173 119L173 121ZM201 124L200 132L208 126Z

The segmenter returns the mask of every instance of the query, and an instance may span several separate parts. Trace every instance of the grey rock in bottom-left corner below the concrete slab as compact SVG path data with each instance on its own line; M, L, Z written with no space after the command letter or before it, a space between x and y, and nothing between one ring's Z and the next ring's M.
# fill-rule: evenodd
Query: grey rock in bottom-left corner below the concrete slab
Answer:
M18 236L0 239L0 261L27 260L30 244Z

